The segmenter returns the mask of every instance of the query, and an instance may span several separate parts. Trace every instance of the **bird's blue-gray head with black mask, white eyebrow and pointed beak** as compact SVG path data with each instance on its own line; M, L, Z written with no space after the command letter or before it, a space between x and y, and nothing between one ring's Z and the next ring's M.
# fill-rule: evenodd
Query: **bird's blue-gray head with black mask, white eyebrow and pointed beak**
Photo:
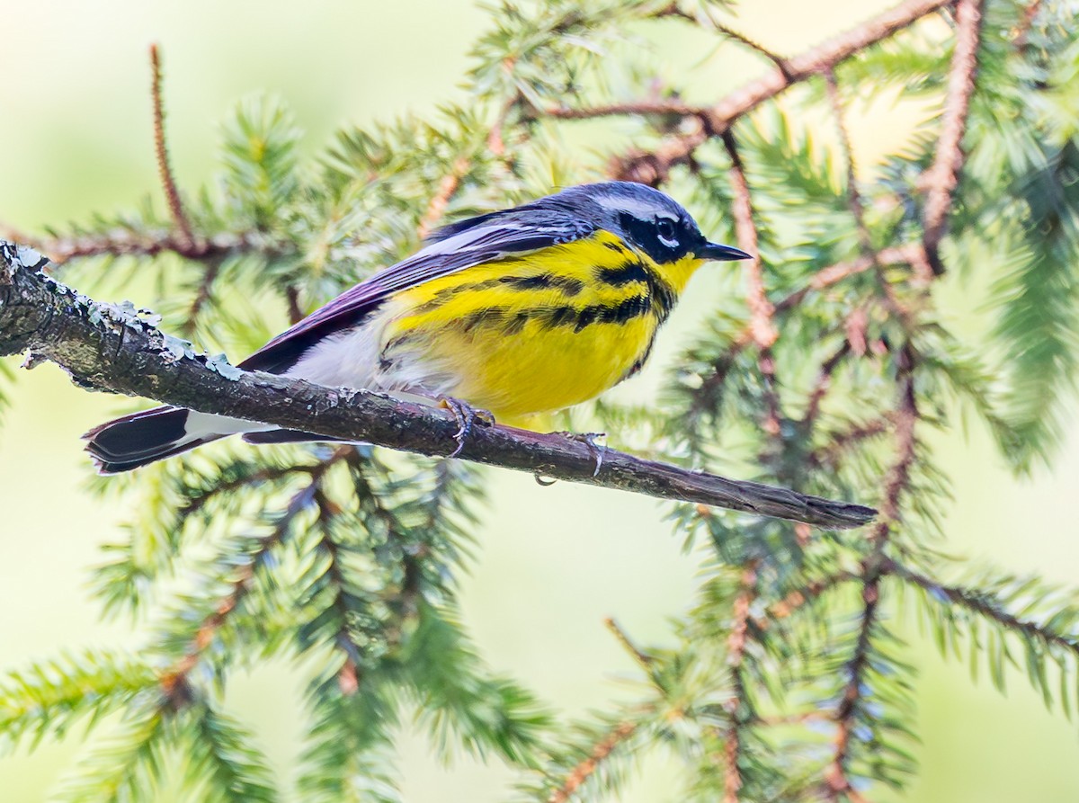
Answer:
M529 206L572 210L596 228L629 241L660 264L691 254L700 259L751 258L738 248L710 243L681 204L647 185L631 181L581 185Z

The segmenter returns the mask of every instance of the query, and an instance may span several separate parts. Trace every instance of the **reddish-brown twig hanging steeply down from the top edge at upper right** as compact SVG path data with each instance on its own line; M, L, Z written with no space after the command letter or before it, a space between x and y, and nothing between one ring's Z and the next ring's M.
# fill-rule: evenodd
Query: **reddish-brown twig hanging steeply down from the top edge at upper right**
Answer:
M970 96L978 73L978 40L982 29L982 0L959 0L956 10L956 40L948 73L947 96L937 155L927 171L923 187L927 190L923 221L926 256L935 275L944 272L940 244L947 232L952 193L962 168L962 135L967 128Z

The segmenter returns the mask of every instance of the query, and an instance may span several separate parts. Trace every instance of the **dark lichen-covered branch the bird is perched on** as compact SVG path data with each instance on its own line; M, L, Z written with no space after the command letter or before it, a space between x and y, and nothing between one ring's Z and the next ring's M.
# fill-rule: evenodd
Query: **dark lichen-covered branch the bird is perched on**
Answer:
M29 351L62 366L86 387L328 437L421 454L454 451L457 424L442 410L361 390L242 371L195 355L134 313L95 302L0 246L0 356ZM757 482L687 471L606 450L596 472L592 448L559 434L494 425L476 427L466 460L661 499L697 502L825 528L859 527L876 512Z

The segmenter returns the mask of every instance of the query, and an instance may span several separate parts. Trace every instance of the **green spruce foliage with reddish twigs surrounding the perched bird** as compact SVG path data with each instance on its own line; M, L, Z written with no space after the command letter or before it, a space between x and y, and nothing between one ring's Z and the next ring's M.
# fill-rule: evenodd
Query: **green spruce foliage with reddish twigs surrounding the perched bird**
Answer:
M224 128L219 180L183 198L194 244L149 202L51 232L42 249L67 257L66 281L107 292L151 275L167 330L245 353L443 219L612 175L654 181L718 239L759 253L763 285L726 288L659 405L597 404L599 425L668 460L751 466L883 518L820 533L674 506L679 537L709 546L696 604L674 647L619 632L640 666L636 698L566 723L487 667L459 621L455 579L482 517L475 469L353 446L207 448L95 480L138 514L94 593L111 615L149 617L152 636L137 654L12 670L4 746L77 722L107 730L60 788L72 801L150 800L173 781L190 800L396 801L395 726L415 714L447 753L515 767L521 800L614 800L663 746L684 763L680 800L857 801L916 772L914 670L893 623L904 607L943 655L1073 716L1076 593L938 552L948 481L927 437L972 414L1016 471L1054 457L1079 354L1075 10L938 5L716 128L715 98L692 73L657 79L648 45L693 27L713 58L743 50L787 70L733 33L729 3L501 0L465 107L345 128L309 162L289 111L247 98ZM978 71L941 259L954 281L992 276L994 324L978 343L942 323L924 250L971 10ZM845 108L891 89L938 113L865 177L845 134L824 146L806 121L842 132ZM581 147L581 125L601 145ZM232 677L268 656L310 672L295 784L222 705Z

